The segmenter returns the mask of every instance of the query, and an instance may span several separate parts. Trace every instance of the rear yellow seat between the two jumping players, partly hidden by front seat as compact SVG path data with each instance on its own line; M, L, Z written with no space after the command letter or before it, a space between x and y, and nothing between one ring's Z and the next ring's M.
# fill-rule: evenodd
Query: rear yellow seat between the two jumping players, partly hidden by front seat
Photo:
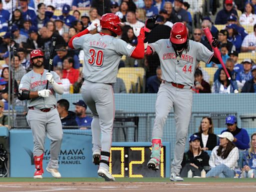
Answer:
M143 67L121 67L118 70L118 73L120 74L135 74L137 75L139 79L139 88L138 91L141 91L141 88L144 88L144 82L145 82L145 69Z

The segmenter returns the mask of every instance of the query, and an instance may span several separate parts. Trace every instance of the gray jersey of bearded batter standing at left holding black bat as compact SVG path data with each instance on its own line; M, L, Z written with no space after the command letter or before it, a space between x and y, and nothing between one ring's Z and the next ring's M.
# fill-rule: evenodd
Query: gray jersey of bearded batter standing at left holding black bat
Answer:
M42 74L35 73L33 70L30 70L26 73L20 80L18 90L30 90L30 91L38 91L46 88L46 75L45 73L48 70L44 69ZM56 72L50 71L53 76L53 79L56 83L62 84L59 76ZM35 108L52 108L53 105L56 105L56 97L55 91L53 90L52 86L49 84L48 89L51 90L51 94L48 97L36 97L31 98L27 101L27 106L34 106Z

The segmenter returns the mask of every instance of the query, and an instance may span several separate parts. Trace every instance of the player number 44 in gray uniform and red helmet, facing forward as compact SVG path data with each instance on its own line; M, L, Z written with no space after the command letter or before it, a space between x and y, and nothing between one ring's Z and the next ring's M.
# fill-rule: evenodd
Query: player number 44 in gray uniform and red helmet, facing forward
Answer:
M213 39L213 46L219 43ZM151 158L147 163L152 170L159 169L161 138L167 115L173 107L176 122L176 143L170 180L182 181L179 172L184 154L188 124L192 108L194 71L198 61L219 63L203 44L189 40L182 22L173 24L169 39L160 39L148 44L146 55L157 53L162 69L162 83L157 92L155 120L152 132Z

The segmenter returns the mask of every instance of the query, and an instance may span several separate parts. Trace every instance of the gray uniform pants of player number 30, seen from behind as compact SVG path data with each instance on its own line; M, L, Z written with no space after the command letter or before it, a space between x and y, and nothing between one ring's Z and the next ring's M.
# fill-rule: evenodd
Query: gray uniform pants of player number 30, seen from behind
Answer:
M93 115L91 122L92 151L110 152L114 119L112 85L84 81L81 86L81 94Z

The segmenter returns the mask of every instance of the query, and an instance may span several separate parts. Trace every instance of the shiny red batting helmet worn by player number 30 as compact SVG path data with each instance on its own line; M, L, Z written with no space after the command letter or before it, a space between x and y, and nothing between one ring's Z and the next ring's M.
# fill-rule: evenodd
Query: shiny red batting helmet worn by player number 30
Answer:
M114 13L105 13L100 17L101 28L107 28L117 35L122 32L120 24L122 23L119 16Z

